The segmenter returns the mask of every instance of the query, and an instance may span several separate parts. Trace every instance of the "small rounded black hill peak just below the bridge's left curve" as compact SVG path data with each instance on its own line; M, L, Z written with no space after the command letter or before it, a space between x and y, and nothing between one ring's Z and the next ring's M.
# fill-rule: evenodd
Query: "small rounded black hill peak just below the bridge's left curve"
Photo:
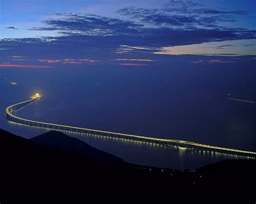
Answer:
M103 160L105 162L123 162L112 154L100 151L92 147L80 139L70 137L59 131L49 131L42 135L31 138L32 142L55 150L66 150L73 153L81 154L83 156Z

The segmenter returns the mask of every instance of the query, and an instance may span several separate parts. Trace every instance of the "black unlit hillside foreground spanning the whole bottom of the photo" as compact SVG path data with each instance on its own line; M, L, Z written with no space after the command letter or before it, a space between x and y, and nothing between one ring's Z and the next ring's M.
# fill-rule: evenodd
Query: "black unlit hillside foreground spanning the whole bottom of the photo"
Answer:
M52 196L59 201L139 196L179 203L255 203L255 160L178 171L126 163L56 131L25 139L0 129L1 204L38 203Z

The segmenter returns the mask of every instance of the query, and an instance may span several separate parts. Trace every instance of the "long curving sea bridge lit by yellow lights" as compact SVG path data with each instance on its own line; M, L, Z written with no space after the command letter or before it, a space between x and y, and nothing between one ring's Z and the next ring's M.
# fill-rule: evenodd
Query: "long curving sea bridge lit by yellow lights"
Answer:
M29 104L29 103L37 100L37 99L38 99L37 97L34 97L31 100L24 101L24 102L21 102L21 103L17 103L17 104L14 104L14 105L10 105L9 107L7 107L5 109L6 117L9 119L9 121L12 121L12 122L15 122L15 123L20 123L20 124L25 124L25 125L30 125L30 126L38 126L38 127L42 127L42 128L50 128L50 129L55 129L55 130L65 130L65 131L80 132L80 133L91 133L91 134L94 134L94 135L105 135L105 136L109 136L109 137L119 137L119 138L140 140L140 141L151 142L151 143L158 143L158 144L164 144L164 145L174 145L174 146L191 148L191 149L199 149L199 150L205 150L205 151L229 153L229 154L248 156L248 157L255 157L256 156L256 152L229 149L229 148L225 148L225 147L199 144L199 143L188 142L188 141L184 141L184 140L160 139L160 138L153 138L153 137L129 135L129 134L118 133L118 132L94 130L94 129L88 129L88 128L78 128L78 127L75 127L75 126L68 126L68 125L59 125L59 124L53 124L53 123L44 123L44 122L38 122L38 121L31 121L29 119L23 119L23 118L17 117L17 116L12 114L14 111L24 107L25 105L27 105L27 104Z

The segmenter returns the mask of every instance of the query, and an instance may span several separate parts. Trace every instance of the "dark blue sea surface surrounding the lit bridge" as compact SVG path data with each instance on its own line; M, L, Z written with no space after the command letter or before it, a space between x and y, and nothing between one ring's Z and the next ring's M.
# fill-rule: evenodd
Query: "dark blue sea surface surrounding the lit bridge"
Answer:
M49 130L8 122L5 108L39 93L41 99L15 114L35 121L256 151L256 103L227 99L256 101L255 67L246 64L206 67L176 61L152 67L9 68L0 69L1 77L18 84L0 80L0 128L25 138ZM125 139L71 136L131 163L150 166L196 168L241 158Z

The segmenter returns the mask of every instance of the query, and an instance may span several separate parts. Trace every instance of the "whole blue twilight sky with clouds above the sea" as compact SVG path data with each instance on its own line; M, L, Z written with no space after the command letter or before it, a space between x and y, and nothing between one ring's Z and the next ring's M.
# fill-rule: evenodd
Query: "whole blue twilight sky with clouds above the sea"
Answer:
M0 68L255 60L255 10L254 0L2 0Z

